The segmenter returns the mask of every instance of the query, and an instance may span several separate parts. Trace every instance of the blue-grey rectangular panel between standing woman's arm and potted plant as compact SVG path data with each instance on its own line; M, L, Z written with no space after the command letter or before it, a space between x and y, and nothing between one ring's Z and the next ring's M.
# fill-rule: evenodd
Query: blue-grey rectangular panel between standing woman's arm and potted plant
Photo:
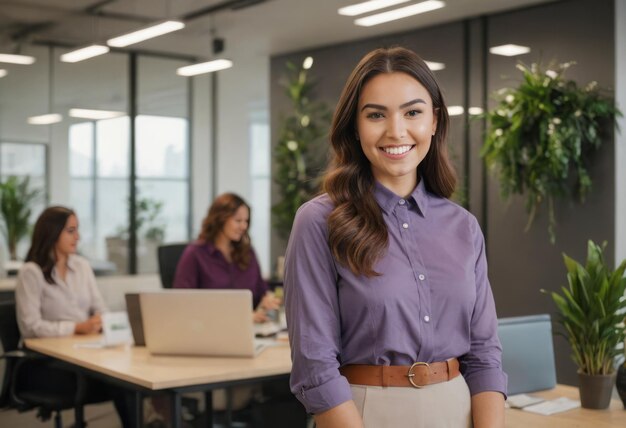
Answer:
M509 377L509 395L556 386L549 314L500 318L498 336L502 366Z

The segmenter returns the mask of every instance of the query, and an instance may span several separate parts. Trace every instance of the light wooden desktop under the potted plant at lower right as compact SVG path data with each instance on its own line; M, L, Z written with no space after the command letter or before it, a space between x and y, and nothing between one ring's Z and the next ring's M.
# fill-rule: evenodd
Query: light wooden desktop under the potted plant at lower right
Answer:
M548 400L567 397L580 400L578 388L567 385L557 385L548 391L533 392L529 395L542 397ZM619 400L612 400L607 410L572 409L567 412L556 413L551 416L524 412L519 409L506 410L507 428L617 428L626 427L626 410Z

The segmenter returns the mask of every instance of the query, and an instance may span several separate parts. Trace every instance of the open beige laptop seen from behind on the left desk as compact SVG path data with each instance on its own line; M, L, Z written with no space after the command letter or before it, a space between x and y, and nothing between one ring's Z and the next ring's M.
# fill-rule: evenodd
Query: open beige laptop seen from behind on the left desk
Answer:
M254 357L250 290L163 290L139 295L146 347L152 354Z

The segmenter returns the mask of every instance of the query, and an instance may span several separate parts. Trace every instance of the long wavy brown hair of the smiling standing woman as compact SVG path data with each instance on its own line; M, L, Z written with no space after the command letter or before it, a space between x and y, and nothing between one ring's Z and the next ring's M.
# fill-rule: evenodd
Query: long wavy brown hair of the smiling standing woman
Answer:
M402 47L376 49L361 59L348 78L333 116L330 144L333 150L323 190L334 202L328 217L329 244L335 259L355 275L378 276L375 262L389 245L387 226L374 197L374 176L357 140L357 108L361 91L382 73L406 73L430 94L437 130L430 150L417 167L426 189L449 198L456 174L448 159L446 138L449 118L435 76L415 52Z

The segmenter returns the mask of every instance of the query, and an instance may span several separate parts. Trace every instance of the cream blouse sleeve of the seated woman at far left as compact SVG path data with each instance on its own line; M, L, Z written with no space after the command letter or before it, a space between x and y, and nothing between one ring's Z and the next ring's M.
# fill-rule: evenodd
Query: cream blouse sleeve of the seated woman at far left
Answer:
M74 334L74 321L48 321L41 316L43 287L54 286L45 281L41 269L34 263L26 263L20 269L15 287L15 310L23 338Z

